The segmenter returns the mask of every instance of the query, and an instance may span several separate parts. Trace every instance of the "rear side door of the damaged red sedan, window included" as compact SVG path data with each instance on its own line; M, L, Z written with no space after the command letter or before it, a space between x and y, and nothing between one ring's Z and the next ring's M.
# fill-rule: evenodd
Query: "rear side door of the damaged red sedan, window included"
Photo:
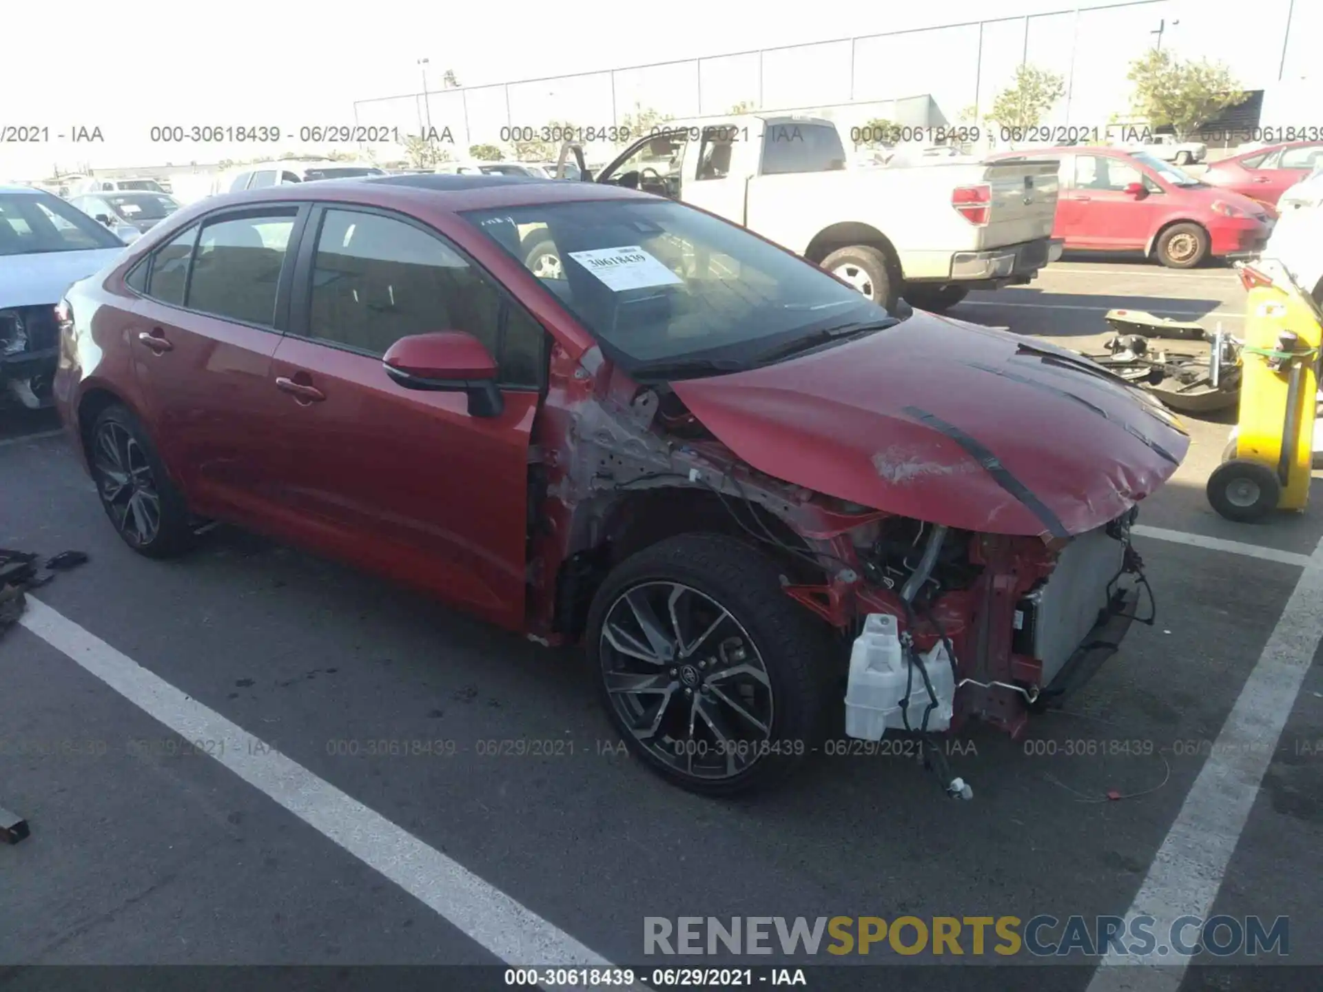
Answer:
M270 388L288 307L290 246L307 208L232 208L147 257L130 345L153 431L192 505L265 529Z

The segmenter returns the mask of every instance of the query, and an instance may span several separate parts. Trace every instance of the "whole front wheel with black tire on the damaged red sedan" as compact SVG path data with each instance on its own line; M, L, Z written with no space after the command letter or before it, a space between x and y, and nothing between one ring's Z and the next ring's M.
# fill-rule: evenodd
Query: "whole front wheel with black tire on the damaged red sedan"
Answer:
M626 558L606 577L593 598L585 636L602 705L631 751L681 788L703 795L733 795L775 784L792 774L816 746L823 727L826 688L832 675L828 664L830 639L826 624L787 599L781 589L781 574L775 562L742 541L714 533L681 534ZM714 604L729 614L728 620L718 618L710 628L708 619L712 614L699 616L697 622L693 612L685 614L691 620L689 626L696 630L684 630L684 622L668 622L669 630L660 634L665 635L667 643L680 644L681 651L658 656L672 657L681 664L667 671L665 661L631 660L639 656L622 653L607 640L605 627L609 619L614 632L611 638L617 643L626 643L620 640L622 636L632 636L638 641L639 635L632 631L642 634L646 630L639 622L639 608L631 606L626 597L632 597L632 602L640 603L647 612L650 599L662 603L663 599L658 595L675 587L684 590L684 598L664 598L672 607L668 611L672 616L683 612L684 603ZM630 612L622 612L624 610ZM660 620L655 608L651 616ZM676 627L680 628L679 636L673 635ZM704 628L710 634L708 640L699 636ZM683 645L688 638L695 639L689 648L701 647L701 651L687 655ZM730 641L736 641L737 647L730 648L728 655ZM638 643L642 645L642 641ZM744 651L745 647L753 648L751 659ZM709 649L712 656L701 659ZM648 647L647 651L656 652L656 647ZM655 664L660 667L654 669ZM699 669L706 664L712 668L700 673ZM622 668L638 671L628 673ZM751 675L740 672L745 668L761 671L765 679L753 684ZM652 671L656 671L656 676L650 675ZM630 675L664 682L664 686L658 682L646 690L648 696L663 696L656 712L648 712L643 705L644 693L611 690L611 685L619 685ZM745 681L728 681L728 675L738 675ZM695 688L685 689L685 685ZM765 688L759 689L759 685ZM729 696L714 698L716 689L722 688L729 689ZM763 694L770 700L770 710L758 705ZM730 697L747 708L744 710L746 714L765 716L766 730L755 730L753 722L741 720L737 710L726 705L732 701ZM673 700L680 700L679 712L669 710ZM688 737L688 743L668 730L677 726L675 721L679 718L680 733L684 734L683 706L687 700L692 700L689 718L695 720L697 727ZM700 712L704 704L706 706ZM632 720L622 710L628 710ZM749 753L730 762L720 761L716 754L704 754L701 761L691 762L688 768L679 767L685 763L680 755L688 753L684 749L689 743L720 739L709 729L709 713L725 722L726 731L738 726L751 733L754 742ZM736 723L732 725L728 717ZM644 727L648 721L650 726ZM656 729L650 738L652 743L644 743L636 731L652 729ZM714 774L700 774L693 771L696 763L724 767ZM736 768L740 763L742 767Z

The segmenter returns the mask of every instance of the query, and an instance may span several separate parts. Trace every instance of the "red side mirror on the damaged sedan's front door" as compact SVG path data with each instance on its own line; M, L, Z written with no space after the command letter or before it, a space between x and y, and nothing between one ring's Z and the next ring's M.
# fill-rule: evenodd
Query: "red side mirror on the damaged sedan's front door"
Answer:
M472 417L500 417L505 409L496 388L496 360L464 331L437 331L401 337L382 356L386 374L405 389L467 393Z

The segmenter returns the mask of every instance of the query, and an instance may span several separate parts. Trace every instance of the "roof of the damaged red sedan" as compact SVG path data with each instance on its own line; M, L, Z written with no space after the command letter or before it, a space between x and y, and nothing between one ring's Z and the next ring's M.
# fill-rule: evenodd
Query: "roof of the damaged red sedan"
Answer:
M329 190L335 189L335 193ZM265 186L239 193L224 193L202 202L232 205L265 202L269 200L335 200L345 190L356 200L380 205L425 204L451 213L501 206L528 206L536 204L574 202L585 200L658 200L651 193L603 185L573 183L534 176L458 175L445 173L405 176L355 176L325 183L299 183L283 186Z

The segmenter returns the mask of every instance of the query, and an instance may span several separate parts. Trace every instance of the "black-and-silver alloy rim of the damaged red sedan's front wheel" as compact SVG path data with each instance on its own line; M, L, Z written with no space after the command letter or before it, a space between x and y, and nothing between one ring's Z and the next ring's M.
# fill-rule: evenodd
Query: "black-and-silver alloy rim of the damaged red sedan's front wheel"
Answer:
M769 753L771 681L753 639L712 597L642 582L606 612L598 655L635 742L696 779L730 779Z

